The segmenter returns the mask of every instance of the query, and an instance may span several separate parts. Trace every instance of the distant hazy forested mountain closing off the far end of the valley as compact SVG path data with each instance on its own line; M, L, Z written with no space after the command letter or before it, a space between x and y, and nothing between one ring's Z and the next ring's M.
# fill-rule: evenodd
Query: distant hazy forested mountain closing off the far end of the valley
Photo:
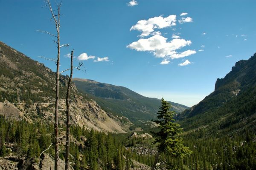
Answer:
M156 118L160 99L144 97L126 87L93 80L74 78L74 82L81 92L90 94L102 108L116 115L123 115L135 124L137 121L150 121ZM182 104L169 103L172 104L172 110L177 113L189 108Z

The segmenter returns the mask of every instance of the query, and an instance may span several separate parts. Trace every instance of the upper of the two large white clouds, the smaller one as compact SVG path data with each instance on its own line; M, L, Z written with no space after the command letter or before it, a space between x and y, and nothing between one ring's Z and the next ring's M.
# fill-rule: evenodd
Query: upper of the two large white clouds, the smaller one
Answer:
M148 20L139 20L136 25L132 26L131 30L138 30L141 33L140 37L146 37L154 32L154 29L163 29L176 25L176 15L169 15L168 17L153 17Z

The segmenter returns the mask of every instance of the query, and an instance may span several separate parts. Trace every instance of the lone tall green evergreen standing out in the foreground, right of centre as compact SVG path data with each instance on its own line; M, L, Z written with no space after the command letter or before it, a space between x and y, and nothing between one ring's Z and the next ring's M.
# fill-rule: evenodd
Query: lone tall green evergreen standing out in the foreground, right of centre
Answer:
M180 158L184 158L186 155L190 155L192 153L188 147L183 145L183 138L180 137L182 128L180 128L179 124L174 122L175 120L173 119L173 115L175 112L170 111L172 108L171 104L163 98L161 102L162 105L157 112L157 120L154 121L159 125L159 132L152 132L155 137L153 144L158 144L158 153L152 166L152 170L154 170L161 153L165 153L171 157Z

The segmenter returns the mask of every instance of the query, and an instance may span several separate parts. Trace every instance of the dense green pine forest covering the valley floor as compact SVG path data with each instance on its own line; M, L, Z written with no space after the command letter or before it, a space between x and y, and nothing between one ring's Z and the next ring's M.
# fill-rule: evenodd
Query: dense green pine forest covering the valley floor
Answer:
M41 152L54 141L52 132L53 124L29 123L0 116L0 156L11 154L17 159L35 157L39 161ZM136 166L132 160L148 166L154 162L153 154L132 152L134 147L156 149L151 145L153 139L129 138L128 134L106 134L78 126L72 126L70 132L73 135L70 154L76 170L128 170ZM199 132L183 135L185 145L193 151L192 155L177 159L162 154L160 159L167 157L172 169L180 170L256 169L256 136L253 132L218 138L201 138L201 135ZM12 153L6 148L11 148ZM53 147L44 154L52 156ZM64 159L64 155L62 145L60 158Z

